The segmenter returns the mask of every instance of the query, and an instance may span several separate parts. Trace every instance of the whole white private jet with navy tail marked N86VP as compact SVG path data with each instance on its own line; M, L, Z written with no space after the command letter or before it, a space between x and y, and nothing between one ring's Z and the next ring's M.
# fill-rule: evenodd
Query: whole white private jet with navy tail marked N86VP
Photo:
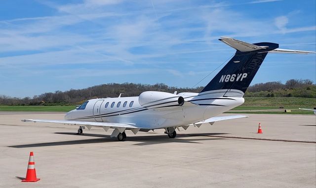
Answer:
M241 105L242 97L268 53L308 54L309 51L286 50L271 42L246 43L230 37L220 41L235 48L235 56L204 87L200 93L170 94L148 91L139 96L90 99L68 112L65 120L24 119L23 122L45 122L79 125L78 133L86 126L114 129L111 137L119 141L126 138L125 131L149 131L163 128L170 138L176 129L187 129L201 124L247 116L215 117Z

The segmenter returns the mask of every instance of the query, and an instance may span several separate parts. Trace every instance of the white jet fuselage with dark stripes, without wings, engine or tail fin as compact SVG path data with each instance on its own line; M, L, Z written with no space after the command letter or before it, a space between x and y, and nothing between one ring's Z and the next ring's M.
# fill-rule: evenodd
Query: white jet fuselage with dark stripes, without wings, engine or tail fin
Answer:
M223 92L229 96L223 97ZM163 106L168 102L160 99L154 103L149 102L154 105L144 107L143 103L139 102L140 96L90 99L84 109L78 108L68 112L65 120L124 123L143 129L156 129L203 121L244 102L244 98L241 97L243 93L240 91L218 90L177 95L184 98L184 105L168 106L165 104ZM155 106L159 107L155 108Z

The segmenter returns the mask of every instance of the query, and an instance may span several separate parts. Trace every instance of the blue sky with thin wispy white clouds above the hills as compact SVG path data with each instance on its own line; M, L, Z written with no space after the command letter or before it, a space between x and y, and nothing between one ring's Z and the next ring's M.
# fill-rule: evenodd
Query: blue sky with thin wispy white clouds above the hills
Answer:
M315 7L315 0L2 0L0 94L113 82L193 87L235 53L220 36L316 51ZM292 78L315 82L316 55L269 54L252 84Z

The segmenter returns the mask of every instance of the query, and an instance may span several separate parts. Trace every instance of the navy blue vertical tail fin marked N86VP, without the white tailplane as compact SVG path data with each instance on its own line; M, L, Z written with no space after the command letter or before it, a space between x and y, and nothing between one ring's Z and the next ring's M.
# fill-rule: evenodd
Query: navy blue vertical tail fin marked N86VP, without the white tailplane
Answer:
M270 50L278 48L278 44L270 42L254 43L265 49L250 52L236 51L235 56L219 71L219 73L201 91L239 90L246 92L260 65Z

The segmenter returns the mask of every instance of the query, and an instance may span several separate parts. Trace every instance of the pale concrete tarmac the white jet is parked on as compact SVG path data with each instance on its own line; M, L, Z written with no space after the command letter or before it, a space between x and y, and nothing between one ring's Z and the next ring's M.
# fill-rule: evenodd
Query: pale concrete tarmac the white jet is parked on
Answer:
M124 142L102 128L76 135L77 126L21 122L63 116L0 112L0 188L316 187L315 115L249 114L175 139L127 131ZM30 151L40 181L22 183Z

